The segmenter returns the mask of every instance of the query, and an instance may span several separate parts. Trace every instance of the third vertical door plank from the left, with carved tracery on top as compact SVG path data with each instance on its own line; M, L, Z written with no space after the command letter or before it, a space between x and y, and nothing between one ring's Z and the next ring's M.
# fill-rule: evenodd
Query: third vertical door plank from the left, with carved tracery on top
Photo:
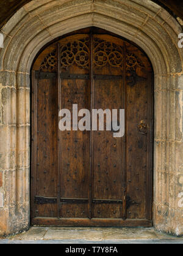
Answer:
M108 35L95 34L94 42L94 108L110 109L112 113L113 109L124 108L123 41ZM105 117L104 131L93 132L93 200L101 200L101 203L93 204L93 217L121 219L122 203L103 203L102 201L123 199L124 138L113 137L113 131L106 130L106 122Z

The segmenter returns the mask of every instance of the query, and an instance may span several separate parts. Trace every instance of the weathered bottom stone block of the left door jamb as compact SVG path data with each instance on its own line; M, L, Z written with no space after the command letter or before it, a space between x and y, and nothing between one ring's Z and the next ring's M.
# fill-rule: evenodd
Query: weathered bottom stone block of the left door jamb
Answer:
M4 205L8 207L9 211L8 232L16 233L19 230L27 230L30 222L29 168L5 171L4 176Z

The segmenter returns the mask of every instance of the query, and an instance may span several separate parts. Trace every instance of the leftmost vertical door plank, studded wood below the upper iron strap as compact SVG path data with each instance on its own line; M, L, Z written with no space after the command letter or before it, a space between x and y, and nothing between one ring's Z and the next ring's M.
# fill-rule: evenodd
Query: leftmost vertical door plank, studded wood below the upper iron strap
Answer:
M56 113L57 81L40 78L37 86L37 183L38 197L57 197ZM36 204L37 217L57 217L57 205Z

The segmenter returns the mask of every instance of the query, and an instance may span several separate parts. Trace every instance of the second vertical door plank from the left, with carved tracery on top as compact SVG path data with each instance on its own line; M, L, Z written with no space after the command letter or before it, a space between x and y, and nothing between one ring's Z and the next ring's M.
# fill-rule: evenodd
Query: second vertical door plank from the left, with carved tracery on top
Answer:
M75 55L71 59L65 57ZM81 51L81 48L84 51ZM77 104L78 111L90 109L88 105L88 79L89 70L89 35L76 35L60 40L60 62L62 63L62 105L60 108L70 110L73 115L73 104ZM85 58L83 53L85 53ZM68 62L67 62L68 61ZM87 63L88 62L88 63ZM61 90L60 90L61 91ZM60 95L61 97L61 95ZM81 119L80 117L78 118ZM73 118L71 118L71 131L65 130L60 141L61 195L62 200L67 198L69 202L62 203L62 217L64 218L87 218L88 217L88 175L90 168L90 150L88 148L90 134L88 131L73 130ZM84 203L82 202L84 199ZM80 200L80 203L77 203Z

